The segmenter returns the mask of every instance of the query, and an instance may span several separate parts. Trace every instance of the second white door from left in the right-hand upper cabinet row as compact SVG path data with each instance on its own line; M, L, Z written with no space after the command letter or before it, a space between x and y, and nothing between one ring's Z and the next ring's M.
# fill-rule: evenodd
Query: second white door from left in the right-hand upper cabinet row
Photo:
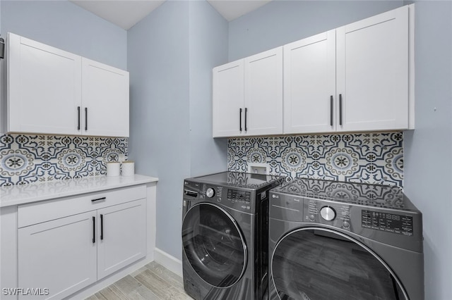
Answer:
M283 47L244 59L246 135L283 133Z

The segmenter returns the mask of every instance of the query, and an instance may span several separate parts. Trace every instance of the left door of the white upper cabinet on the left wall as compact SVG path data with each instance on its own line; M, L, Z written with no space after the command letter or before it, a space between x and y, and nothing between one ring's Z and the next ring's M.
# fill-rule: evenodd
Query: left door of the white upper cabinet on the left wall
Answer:
M8 132L73 135L81 56L8 33Z

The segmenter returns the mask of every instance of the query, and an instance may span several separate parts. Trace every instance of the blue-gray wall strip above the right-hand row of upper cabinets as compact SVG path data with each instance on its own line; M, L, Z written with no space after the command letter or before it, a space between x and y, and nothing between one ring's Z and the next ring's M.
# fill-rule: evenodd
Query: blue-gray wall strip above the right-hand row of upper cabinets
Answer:
M244 58L402 5L396 0L273 0L230 22L229 58Z

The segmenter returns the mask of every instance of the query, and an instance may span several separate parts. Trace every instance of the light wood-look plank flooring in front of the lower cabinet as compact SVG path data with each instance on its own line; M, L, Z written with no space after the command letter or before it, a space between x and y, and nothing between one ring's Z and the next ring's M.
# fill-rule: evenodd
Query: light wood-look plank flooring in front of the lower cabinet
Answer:
M182 278L162 265L148 263L86 300L192 300Z

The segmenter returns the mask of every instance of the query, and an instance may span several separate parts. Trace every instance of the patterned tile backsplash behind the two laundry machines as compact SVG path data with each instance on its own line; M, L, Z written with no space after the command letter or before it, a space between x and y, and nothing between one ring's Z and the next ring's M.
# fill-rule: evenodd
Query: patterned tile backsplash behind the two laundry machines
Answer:
M270 175L403 187L403 133L228 139L227 168L266 163Z

